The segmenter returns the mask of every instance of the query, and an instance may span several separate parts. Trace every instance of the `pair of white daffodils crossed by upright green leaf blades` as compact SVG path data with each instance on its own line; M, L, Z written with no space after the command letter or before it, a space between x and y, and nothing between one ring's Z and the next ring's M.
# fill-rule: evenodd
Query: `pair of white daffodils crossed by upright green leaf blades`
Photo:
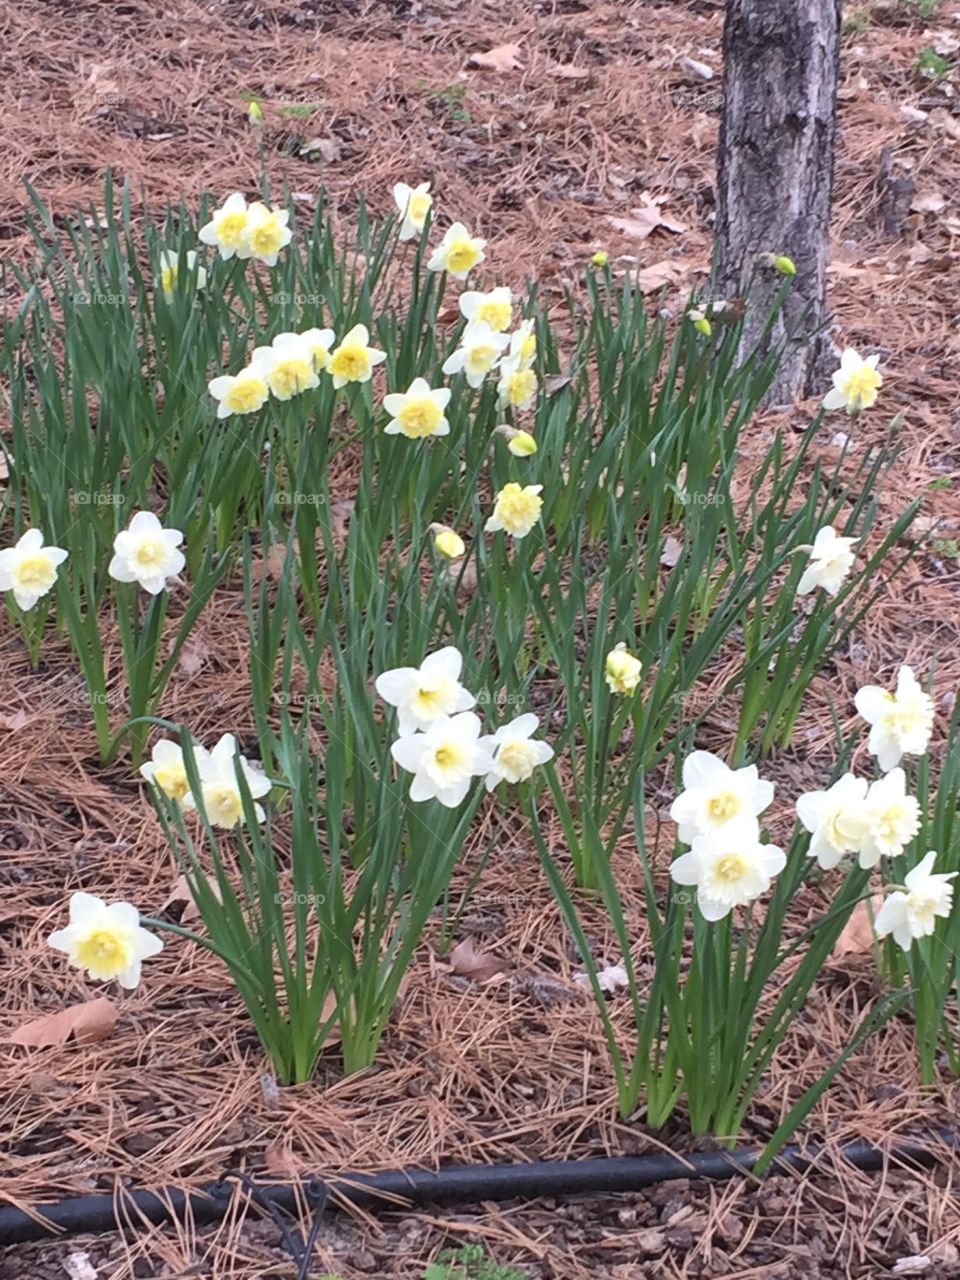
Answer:
M233 733L224 733L210 751L198 742L193 742L192 748L204 812L214 827L230 831L243 822L243 797L237 782L237 765L253 801L269 794L270 780L256 764L251 764L246 755L237 754L237 739ZM156 742L151 758L141 764L140 772L147 782L152 782L182 809L197 808L187 777L183 748L177 742L169 739ZM253 813L257 822L262 822L266 817L262 806L256 803Z

